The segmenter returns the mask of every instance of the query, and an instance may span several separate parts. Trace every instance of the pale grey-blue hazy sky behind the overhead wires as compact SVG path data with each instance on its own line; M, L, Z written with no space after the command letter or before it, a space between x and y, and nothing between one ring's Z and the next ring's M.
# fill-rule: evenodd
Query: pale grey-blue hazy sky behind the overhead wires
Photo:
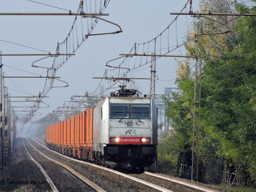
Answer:
M62 9L71 10L72 12L76 12L80 4L79 0L35 1ZM96 9L99 8L99 2L99 0L96 0ZM151 54L151 52L154 50L153 47L155 37L161 34L162 31L176 17L176 15L170 15L170 12L180 12L186 2L187 0L110 0L104 12L109 13L109 16L102 16L101 18L118 24L122 28L123 32L114 35L90 36L86 41L84 41L84 43L75 52L76 55L72 56L56 72L56 76L60 76L60 80L67 82L69 86L52 88L47 94L49 98L43 99L44 103L48 104L50 107L39 109L38 112L42 115L35 117L38 119L43 115L52 112L53 109L62 106L64 101L69 101L72 95L84 95L86 91L89 93L93 92L100 83L100 79L92 79L92 77L102 77L105 69L108 68L105 66L106 63L109 60L120 57L118 56L119 53L129 53L134 43L140 44L140 46L137 47L138 54L143 52L148 52L148 54ZM88 0L87 3L89 4ZM255 5L255 3L252 2L247 2L246 4L249 6ZM67 12L65 10L34 3L28 0L1 0L0 5L0 12ZM193 11L198 10L198 5L198 0L193 1ZM0 51L2 51L2 54L55 53L57 42L63 42L68 36L74 19L75 16L0 15L0 40L15 43L11 44L0 41ZM169 27L168 31L166 30L161 36L157 37L156 50L158 51L156 51L156 54L159 54L160 52L161 54L165 54L168 46L170 47L169 49L172 50L172 48L177 48L177 45L182 44L182 42L186 39L185 35L187 33L189 22L191 21L191 17L186 17L185 15L179 16L177 20L174 21L174 23ZM81 22L84 27L84 33L86 34L86 19L82 18L81 20L81 18L78 17L77 25L81 26ZM119 30L117 26L100 20L93 29L92 34L108 33L117 30ZM79 32L78 36L81 38ZM153 41L148 45L146 42L152 39ZM143 43L145 44L144 49L142 50ZM30 49L16 44L33 47L46 52ZM134 53L134 50L132 53ZM168 54L184 55L186 52L184 46L180 46ZM34 61L42 59L43 57L45 56L2 56L2 64L4 65L3 71L5 76L46 76L47 69L31 67ZM150 57L147 59L148 61L151 60ZM182 58L176 59L180 60ZM146 57L129 58L129 68L132 69L134 67L138 67L140 64L144 64L145 60ZM122 61L123 59L118 59L109 62L108 65L118 66L122 63ZM35 65L51 67L52 62L53 58L50 57L36 62ZM175 79L175 68L176 61L173 57L162 57L156 60L156 75L159 78L159 80L156 82L156 94L164 94L165 87L176 87L174 81L166 81ZM129 76L138 78L150 77L150 63L138 69L134 69L134 72L130 72ZM103 80L103 85L106 88L110 85L110 83L111 82L109 82L109 80ZM38 95L39 91L43 91L44 84L45 79L43 78L4 79L4 85L8 87L8 93L10 93L11 96L28 96L28 94ZM132 83L130 82L130 84ZM53 83L53 86L64 85L66 84L56 80ZM143 95L148 94L150 90L150 80L137 80L134 86L139 87L139 90L142 91ZM104 94L109 95L110 92L116 90L117 89L109 89L104 92ZM11 100L24 100L24 98L11 98ZM68 102L66 102L66 104L68 104ZM12 102L12 106L26 105L30 105L30 102ZM44 107L46 105L41 104L40 106ZM19 108L15 109L20 110ZM19 114L20 112L16 113ZM39 113L37 114L40 115Z

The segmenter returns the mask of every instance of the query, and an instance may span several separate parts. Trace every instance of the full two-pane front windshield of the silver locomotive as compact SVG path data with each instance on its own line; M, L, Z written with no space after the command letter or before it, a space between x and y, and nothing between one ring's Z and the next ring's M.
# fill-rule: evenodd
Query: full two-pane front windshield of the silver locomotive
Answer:
M150 104L110 103L110 119L150 119Z

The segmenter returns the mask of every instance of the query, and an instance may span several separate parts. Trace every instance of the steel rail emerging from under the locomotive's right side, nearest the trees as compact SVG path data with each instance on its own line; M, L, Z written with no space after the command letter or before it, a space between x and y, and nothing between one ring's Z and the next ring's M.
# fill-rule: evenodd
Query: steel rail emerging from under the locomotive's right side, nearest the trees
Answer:
M191 187L191 188L195 188L197 190L202 190L202 191L206 191L206 192L219 192L219 191L216 191L214 189L210 189L210 188L207 188L207 187L203 187L203 186L200 186L200 185L189 183L187 181L182 181L182 180L179 180L179 179L159 175L159 174L156 174L156 173L151 173L151 172L148 172L148 171L144 171L144 174L151 175L151 176L158 177L158 178L165 179L165 180L169 180L169 181L172 181L172 182L175 182L175 183L179 183L181 185L185 185L185 186L188 186L188 187Z

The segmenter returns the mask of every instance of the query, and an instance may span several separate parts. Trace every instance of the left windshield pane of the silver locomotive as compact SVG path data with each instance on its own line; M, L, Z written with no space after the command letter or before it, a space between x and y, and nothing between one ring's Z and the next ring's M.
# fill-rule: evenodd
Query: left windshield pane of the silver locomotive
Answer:
M110 104L110 119L129 119L129 104Z

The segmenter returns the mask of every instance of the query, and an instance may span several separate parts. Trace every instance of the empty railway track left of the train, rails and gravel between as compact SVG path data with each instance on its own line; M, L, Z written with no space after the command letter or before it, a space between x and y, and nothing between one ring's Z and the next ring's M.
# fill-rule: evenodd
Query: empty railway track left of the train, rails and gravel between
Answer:
M50 157L38 151L36 148L33 147L28 139L25 140L25 142L23 140L23 144L25 146L25 149L28 151L28 154L35 160L38 166L42 169L44 167L43 172L45 173L47 181L49 180L49 182L51 183L50 185L53 191L106 192L95 183L73 170L71 167L59 161L51 159ZM46 174L46 172L48 174ZM53 183L55 183L55 185Z

